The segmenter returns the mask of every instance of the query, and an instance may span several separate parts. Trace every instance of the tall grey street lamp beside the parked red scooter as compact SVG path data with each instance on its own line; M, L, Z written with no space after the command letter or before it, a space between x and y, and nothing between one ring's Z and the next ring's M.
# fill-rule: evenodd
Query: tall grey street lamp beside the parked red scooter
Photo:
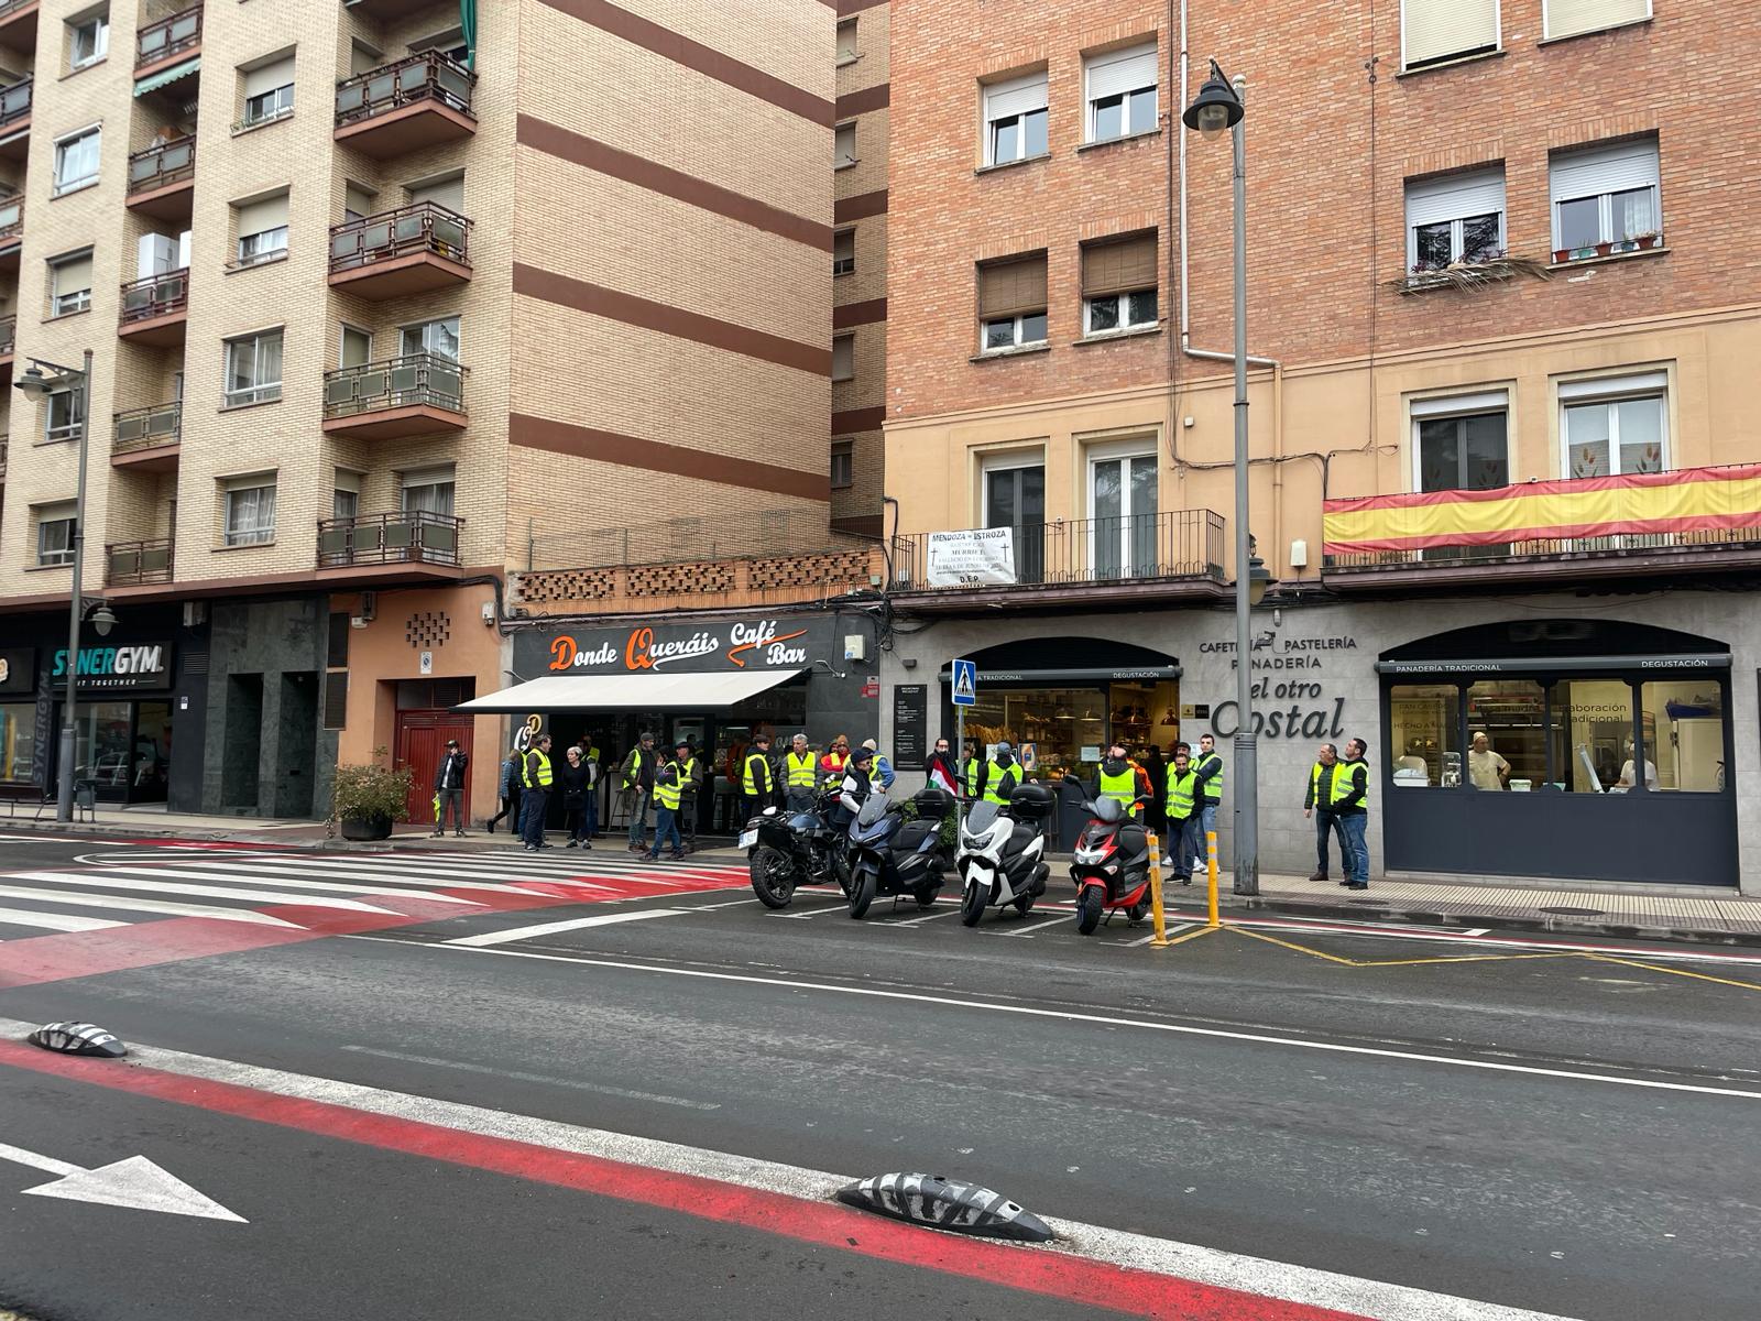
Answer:
M1247 83L1231 83L1212 60L1210 77L1180 122L1205 137L1229 130L1234 146L1234 893L1259 893L1259 738L1254 734L1252 609L1271 574L1254 558L1247 534Z

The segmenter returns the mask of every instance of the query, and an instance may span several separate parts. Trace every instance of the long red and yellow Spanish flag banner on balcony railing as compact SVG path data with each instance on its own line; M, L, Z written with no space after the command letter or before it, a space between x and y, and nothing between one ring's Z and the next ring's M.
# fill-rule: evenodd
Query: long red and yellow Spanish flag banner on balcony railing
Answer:
M1738 528L1761 534L1761 463L1323 504L1328 555Z

